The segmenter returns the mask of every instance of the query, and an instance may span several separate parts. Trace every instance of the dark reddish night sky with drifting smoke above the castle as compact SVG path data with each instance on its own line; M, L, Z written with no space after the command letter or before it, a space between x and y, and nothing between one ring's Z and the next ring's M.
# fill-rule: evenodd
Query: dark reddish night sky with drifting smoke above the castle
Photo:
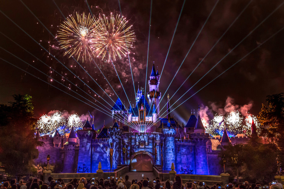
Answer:
M150 0L120 0L120 2L117 0L87 1L90 10L94 15L98 15L99 13L109 14L109 12L119 13L121 7L122 15L129 20L129 24L133 24L136 41L134 43L135 48L131 50L130 53L130 62L135 91L138 89L138 82L140 87L145 88L146 79L146 92L149 90L149 75L151 73L153 62L155 62L155 66L158 66L161 75L159 91L162 92L163 96L170 82L174 78L175 73L179 69L179 66L183 62L183 59L185 59L166 92L166 95L160 102L160 109L166 104L167 94L172 97L170 101L172 109L176 108L187 98L212 81L212 79L217 77L235 62L242 59L246 54L284 26L284 5L282 4L282 1L220 0L217 4L216 2L216 0L186 0L171 48L169 49L183 1L154 0L152 5L149 38L149 56L147 58L151 8ZM12 101L13 94L30 94L33 98L35 106L34 112L37 118L42 114L47 114L53 110L65 110L65 112L68 111L69 114L77 113L79 115L87 115L87 111L90 110L90 112L95 111L97 125L103 124L104 120L106 124L112 122L112 120L109 119L109 116L96 110L99 108L94 109L90 105L94 107L99 105L110 112L107 108L110 109L114 104L112 100L116 101L117 96L115 92L117 94L119 92L120 98L125 102L127 108L129 101L131 101L131 104L135 104L135 91L132 83L128 57L123 57L123 59L118 59L113 62L119 77L117 77L111 62L96 60L97 65L101 68L102 73L106 77L104 78L94 62L78 61L97 84L110 95L111 100L85 70L80 68L74 59L68 59L67 56L63 56L64 50L59 50L57 48L60 45L52 35L55 36L57 34L59 24L65 19L64 16L74 14L76 11L80 13L90 12L87 3L85 0L23 0L22 2L9 0L1 2L0 103ZM208 15L215 4L216 7L208 18ZM279 5L281 6L271 14L271 12ZM239 16L218 44L201 62L208 51L215 45L246 6L247 8L241 16ZM42 26L27 7L48 30ZM33 41L11 20L4 16L2 12L8 16L9 19L13 20L13 22L15 22L22 30L27 32L35 41L39 42L48 52ZM260 24L269 14L271 14L271 16ZM207 18L208 21L203 27ZM259 24L260 26L254 30ZM202 27L203 29L201 30ZM200 30L201 33L197 37ZM242 39L252 30L254 31L242 41ZM20 48L3 34L37 58ZM238 109L241 112L249 111L249 113L257 115L261 109L261 103L265 103L267 95L283 92L283 34L284 31L281 30L266 43L238 62L238 64L175 109L172 114L175 115L175 118L179 119L179 123L187 122L190 117L191 109L192 111L195 109L195 112L197 112L198 104L201 105L201 116L205 118L207 116L208 118L212 118L215 113L224 114L231 109ZM240 41L242 41L242 43L228 54L226 58L219 62L219 60L230 52ZM194 45L192 46L193 43ZM192 48L188 53L191 46ZM13 55L9 54L4 49ZM60 62L55 60L49 52L89 85L91 89L84 85L78 78L74 78L74 75L62 66ZM165 61L167 53L168 57ZM186 56L187 53L188 55ZM44 74L31 66L28 66L15 56L41 70ZM47 83L60 88L62 91L19 70L2 59L35 75ZM45 66L39 60L42 60L48 66ZM201 64L196 68L200 62ZM203 77L217 62L219 62L219 64ZM162 71L163 66L164 70ZM64 75L65 78L54 73L50 67ZM192 73L195 68L196 70ZM177 91L190 73L192 73L192 75L179 91ZM48 76L59 81L64 86L70 87L70 89L56 83L54 80L51 81ZM203 78L194 85L201 77ZM124 89L120 84L119 78ZM77 84L79 88L91 96L80 91L77 87L68 82L67 79L72 83ZM109 81L115 92L109 87L106 80ZM193 85L194 87L192 87ZM192 88L190 89L190 87ZM190 89L190 91L180 98L188 89ZM95 96L95 93L92 90L101 97L99 98L98 95ZM124 90L126 91L127 96ZM75 94L73 91L77 92L79 95ZM173 96L175 92L176 94ZM68 94L71 94L72 96ZM86 103L79 101L73 96ZM110 105L101 98L104 98ZM179 101L176 102L178 99ZM99 104L98 101L107 108ZM160 114L162 112L160 112ZM82 119L85 119L84 116Z

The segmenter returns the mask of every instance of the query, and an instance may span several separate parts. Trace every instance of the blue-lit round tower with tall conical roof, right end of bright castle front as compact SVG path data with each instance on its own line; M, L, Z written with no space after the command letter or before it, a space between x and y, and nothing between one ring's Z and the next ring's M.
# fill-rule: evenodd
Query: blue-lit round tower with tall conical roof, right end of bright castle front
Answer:
M190 134L190 138L194 140L194 154L195 154L195 172L197 175L209 175L208 169L208 155L207 155L207 141L209 134L205 133L205 128L201 121L199 111L197 121L194 127L194 133Z

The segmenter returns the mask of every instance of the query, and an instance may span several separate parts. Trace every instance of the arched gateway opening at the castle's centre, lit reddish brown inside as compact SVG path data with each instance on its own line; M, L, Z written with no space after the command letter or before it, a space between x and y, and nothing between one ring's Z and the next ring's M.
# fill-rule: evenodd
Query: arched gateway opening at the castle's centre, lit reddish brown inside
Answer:
M145 153L135 155L131 160L131 171L153 171L152 158Z

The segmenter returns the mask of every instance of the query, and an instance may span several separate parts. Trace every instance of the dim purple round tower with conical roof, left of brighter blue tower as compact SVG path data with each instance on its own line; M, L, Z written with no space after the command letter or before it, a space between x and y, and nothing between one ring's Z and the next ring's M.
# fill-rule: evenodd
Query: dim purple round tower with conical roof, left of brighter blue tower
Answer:
M63 172L75 173L76 162L78 161L79 144L77 143L76 133L72 127L67 142L63 144ZM77 158L76 158L77 157Z

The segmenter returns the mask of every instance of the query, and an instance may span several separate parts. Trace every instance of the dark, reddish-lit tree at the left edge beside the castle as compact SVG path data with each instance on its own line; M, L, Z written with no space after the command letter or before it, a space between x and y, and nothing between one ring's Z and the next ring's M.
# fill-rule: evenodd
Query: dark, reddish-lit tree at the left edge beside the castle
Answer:
M31 96L13 95L15 102L0 105L0 160L7 173L29 173L38 157Z

